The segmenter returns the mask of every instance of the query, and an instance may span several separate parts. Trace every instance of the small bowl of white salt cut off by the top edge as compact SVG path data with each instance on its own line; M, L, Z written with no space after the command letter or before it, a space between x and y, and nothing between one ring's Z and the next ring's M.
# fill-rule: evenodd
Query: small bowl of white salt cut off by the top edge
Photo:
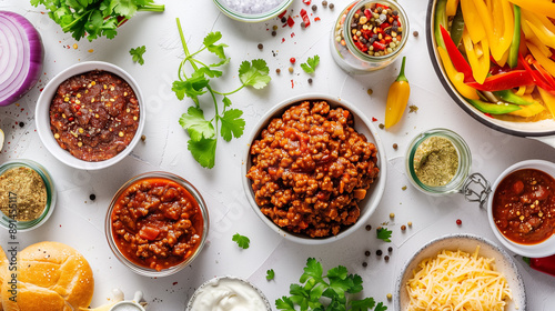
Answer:
M279 16L293 0L214 0L228 17L245 22L259 22Z

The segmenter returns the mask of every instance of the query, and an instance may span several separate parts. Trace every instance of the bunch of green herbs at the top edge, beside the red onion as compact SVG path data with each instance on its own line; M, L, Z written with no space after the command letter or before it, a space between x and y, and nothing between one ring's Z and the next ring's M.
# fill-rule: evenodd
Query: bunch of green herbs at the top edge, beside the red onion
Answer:
M89 41L102 36L113 39L115 29L137 11L164 11L154 0L31 0L31 4L44 6L63 32L71 32L78 41L85 36Z

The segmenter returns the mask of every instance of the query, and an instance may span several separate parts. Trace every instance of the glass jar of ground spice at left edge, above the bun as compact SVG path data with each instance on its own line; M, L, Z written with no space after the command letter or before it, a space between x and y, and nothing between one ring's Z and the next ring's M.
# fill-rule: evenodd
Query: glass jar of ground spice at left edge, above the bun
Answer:
M52 213L56 189L49 172L31 160L0 165L0 225L10 232L38 228Z

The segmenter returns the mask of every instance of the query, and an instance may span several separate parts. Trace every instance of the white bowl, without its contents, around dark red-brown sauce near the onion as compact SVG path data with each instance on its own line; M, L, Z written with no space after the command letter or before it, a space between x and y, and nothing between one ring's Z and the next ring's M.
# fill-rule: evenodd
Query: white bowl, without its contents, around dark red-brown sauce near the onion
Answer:
M98 162L89 162L80 160L71 156L69 151L62 149L56 141L52 131L50 130L50 117L49 117L50 104L52 102L52 99L54 98L58 87L67 79L75 74L84 73L91 70L109 71L125 80L135 92L140 109L139 127L137 129L135 136L133 137L129 146L125 149L123 149L123 151L118 153L115 157ZM48 149L48 151L50 151L50 153L52 153L52 156L54 156L58 160L75 169L100 170L118 163L123 158L125 158L129 154L129 152L131 152L131 150L141 139L141 133L144 128L144 121L147 119L145 116L147 114L144 108L144 100L142 97L141 89L139 88L137 81L128 72L109 62L87 61L71 66L70 68L58 73L52 80L48 82L47 87L44 87L44 89L42 90L39 100L37 101L34 121L37 124L37 131L39 132L39 137L42 143Z

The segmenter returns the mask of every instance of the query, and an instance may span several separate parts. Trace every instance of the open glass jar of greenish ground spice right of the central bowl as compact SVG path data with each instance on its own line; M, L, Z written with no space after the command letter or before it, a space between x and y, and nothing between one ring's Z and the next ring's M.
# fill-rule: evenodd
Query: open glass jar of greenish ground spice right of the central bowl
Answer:
M408 179L416 189L432 195L461 192L471 164L468 146L461 136L447 129L420 133L406 152Z

